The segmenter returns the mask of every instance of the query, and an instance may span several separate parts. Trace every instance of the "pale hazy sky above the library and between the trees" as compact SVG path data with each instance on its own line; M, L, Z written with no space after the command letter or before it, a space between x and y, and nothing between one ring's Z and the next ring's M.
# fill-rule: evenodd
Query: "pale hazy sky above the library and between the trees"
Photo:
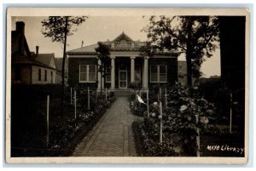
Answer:
M49 37L44 37L41 33L43 29L41 21L45 19L47 17L12 17L12 31L15 30L16 21L24 21L26 41L30 50L35 52L36 46L39 46L39 53L54 53L56 58L61 58L63 55L61 43L53 43ZM78 31L74 32L73 36L67 37L67 51L80 48L82 41L84 46L99 41L111 41L123 31L134 41L146 41L147 35L141 30L148 25L148 22L148 18L143 16L90 16L80 26L73 27ZM206 59L201 66L203 77L220 76L219 48L211 58ZM181 54L178 60L185 60L184 54Z

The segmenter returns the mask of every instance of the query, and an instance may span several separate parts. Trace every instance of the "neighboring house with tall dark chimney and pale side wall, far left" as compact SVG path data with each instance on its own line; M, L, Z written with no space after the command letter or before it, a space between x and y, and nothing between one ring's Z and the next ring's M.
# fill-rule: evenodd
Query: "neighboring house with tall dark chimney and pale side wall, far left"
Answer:
M16 31L12 31L11 35L11 83L55 83L55 62L44 62L37 54L30 52L24 33L25 23L16 22Z

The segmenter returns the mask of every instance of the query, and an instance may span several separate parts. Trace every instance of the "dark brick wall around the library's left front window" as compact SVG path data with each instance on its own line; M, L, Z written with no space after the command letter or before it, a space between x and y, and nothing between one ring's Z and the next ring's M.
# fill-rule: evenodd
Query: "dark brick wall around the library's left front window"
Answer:
M97 88L97 83L79 83L79 65L96 65L96 58L68 58L68 84L72 87Z

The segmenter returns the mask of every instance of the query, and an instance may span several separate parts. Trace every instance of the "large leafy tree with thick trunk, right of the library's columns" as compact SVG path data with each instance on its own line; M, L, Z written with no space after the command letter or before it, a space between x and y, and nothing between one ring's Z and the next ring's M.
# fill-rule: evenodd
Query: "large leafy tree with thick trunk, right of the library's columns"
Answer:
M147 32L152 51L171 50L184 53L187 63L188 86L192 86L192 75L201 76L204 56L210 58L218 47L218 17L215 16L174 16L168 18L151 16Z

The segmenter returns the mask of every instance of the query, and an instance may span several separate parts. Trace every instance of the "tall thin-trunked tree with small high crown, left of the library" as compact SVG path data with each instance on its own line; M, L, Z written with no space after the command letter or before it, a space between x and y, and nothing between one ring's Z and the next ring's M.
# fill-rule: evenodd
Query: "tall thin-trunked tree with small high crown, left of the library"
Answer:
M71 17L71 16L49 16L47 20L43 20L42 26L44 30L44 37L50 37L52 42L63 43L63 60L62 60L62 86L65 86L65 61L66 61L66 47L67 47L67 36L72 36L74 31L72 30L74 25L79 26L82 24L88 17Z

